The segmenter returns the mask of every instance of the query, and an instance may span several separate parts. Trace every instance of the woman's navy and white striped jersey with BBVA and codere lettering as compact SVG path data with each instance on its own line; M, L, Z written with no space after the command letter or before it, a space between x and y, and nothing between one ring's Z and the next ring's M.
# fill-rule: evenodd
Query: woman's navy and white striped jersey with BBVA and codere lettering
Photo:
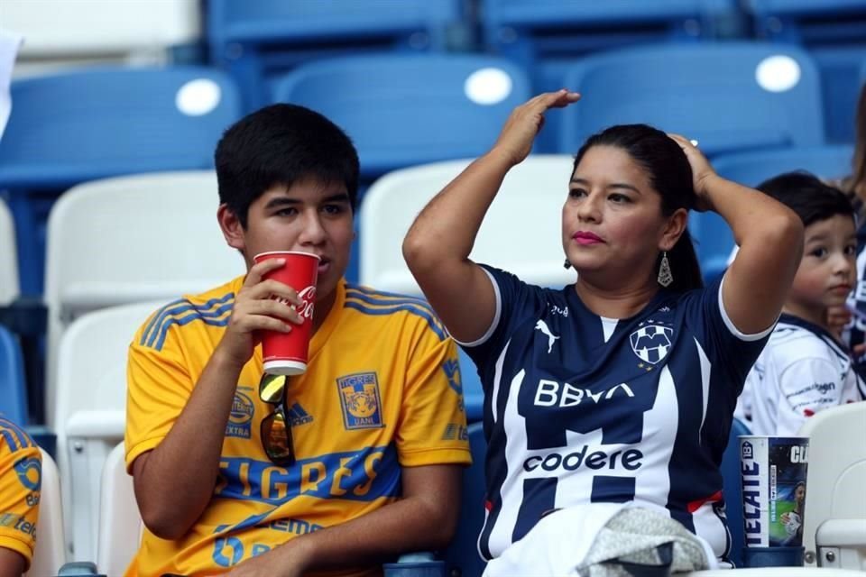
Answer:
M484 270L496 316L481 339L463 343L484 387L480 553L499 556L549 509L635 501L666 508L724 556L719 463L770 330L737 331L721 280L660 290L617 320L592 313L573 285L541 289Z

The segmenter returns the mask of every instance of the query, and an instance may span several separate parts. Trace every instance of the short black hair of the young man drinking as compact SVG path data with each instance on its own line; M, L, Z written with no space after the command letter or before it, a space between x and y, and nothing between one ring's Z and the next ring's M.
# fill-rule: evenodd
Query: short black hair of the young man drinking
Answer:
M246 227L250 205L275 186L303 179L345 184L353 209L358 153L349 137L322 114L299 105L270 105L226 130L214 154L219 201Z

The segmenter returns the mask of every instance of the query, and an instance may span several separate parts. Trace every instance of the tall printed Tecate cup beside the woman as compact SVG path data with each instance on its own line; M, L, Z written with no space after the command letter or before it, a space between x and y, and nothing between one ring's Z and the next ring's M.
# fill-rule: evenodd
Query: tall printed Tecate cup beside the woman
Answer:
M740 437L747 547L803 545L808 451L808 437Z

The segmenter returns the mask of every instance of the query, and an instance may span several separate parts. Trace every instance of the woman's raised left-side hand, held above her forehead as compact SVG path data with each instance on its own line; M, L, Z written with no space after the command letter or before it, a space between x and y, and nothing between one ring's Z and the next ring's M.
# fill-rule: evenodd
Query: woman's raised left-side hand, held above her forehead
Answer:
M511 165L520 164L532 150L532 142L544 125L544 113L550 108L565 108L576 103L580 95L566 88L557 92L545 92L515 108L505 125L493 151L502 153Z

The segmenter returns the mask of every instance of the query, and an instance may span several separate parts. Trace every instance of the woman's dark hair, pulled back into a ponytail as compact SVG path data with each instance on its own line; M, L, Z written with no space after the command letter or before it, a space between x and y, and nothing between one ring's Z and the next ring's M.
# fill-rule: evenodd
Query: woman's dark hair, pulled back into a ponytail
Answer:
M594 146L613 146L625 151L650 175L652 188L661 195L661 212L673 215L679 208L695 206L695 188L692 184L692 167L686 153L666 133L647 124L619 124L590 136L577 151L573 171L577 169L586 151ZM704 286L701 266L698 264L695 247L688 230L683 231L677 243L668 251L670 270L674 281L668 289L683 292ZM661 253L656 261L656 270L661 262Z

